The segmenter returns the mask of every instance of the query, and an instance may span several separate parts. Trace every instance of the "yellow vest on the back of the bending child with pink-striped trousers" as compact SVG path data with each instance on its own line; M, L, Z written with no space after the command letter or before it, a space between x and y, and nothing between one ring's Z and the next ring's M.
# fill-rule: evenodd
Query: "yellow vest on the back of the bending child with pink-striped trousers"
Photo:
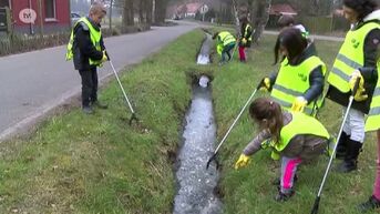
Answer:
M326 128L317 119L299 112L291 112L291 121L280 131L280 140L274 146L276 151L281 152L299 134L312 134L326 137L326 140L330 137Z

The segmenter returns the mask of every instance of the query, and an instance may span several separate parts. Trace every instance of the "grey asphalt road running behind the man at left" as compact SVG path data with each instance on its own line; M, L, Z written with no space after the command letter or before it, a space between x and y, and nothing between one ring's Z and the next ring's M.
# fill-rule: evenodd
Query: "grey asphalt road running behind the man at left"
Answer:
M195 28L182 22L151 31L105 39L116 70L137 63ZM65 45L0 58L0 142L24 131L50 110L80 93L81 81L73 63L64 60ZM112 74L106 63L99 77Z

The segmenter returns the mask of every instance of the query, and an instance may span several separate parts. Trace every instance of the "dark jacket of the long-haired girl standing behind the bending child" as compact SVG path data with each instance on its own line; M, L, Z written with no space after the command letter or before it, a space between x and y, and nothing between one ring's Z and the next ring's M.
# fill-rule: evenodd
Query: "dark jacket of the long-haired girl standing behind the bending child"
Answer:
M292 67L298 65L312 55L317 55L317 50L315 44L310 42L308 47L304 50L304 52L299 55L299 58L295 62L289 62L289 64ZM275 84L277 75L278 72L274 72L270 74L270 85ZM306 92L304 93L304 98L308 101L308 103L318 99L323 91L325 77L322 72L322 67L317 67L310 72L309 85L310 88L306 90Z

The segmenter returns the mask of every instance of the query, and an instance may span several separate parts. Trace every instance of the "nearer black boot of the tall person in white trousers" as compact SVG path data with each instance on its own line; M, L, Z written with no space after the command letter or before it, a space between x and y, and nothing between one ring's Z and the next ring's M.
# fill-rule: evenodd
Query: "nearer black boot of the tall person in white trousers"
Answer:
M338 166L338 172L349 173L358 169L358 156L361 151L362 143L359 141L349 140L348 150L345 161Z

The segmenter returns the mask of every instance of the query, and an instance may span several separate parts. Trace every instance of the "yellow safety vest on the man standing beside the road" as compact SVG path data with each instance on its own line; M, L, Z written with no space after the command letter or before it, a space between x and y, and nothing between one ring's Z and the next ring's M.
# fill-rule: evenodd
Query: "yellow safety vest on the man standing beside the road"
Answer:
M68 51L66 51L66 60L72 60L73 59L73 43L74 43L74 29L75 27L80 23L80 22L83 22L85 23L88 27L89 27L89 30L90 30L90 39L91 39L91 42L92 44L95 47L95 49L97 51L102 51L102 48L101 48L101 44L100 44L100 41L101 41L101 38L102 38L102 32L101 31L97 31L94 29L94 27L91 24L91 22L88 20L88 18L85 17L82 17L81 19L79 19L74 26L74 28L72 29L71 31L71 35L70 35L70 41L68 43ZM90 65L101 65L102 62L100 60L95 61L95 60L91 60L89 59L89 63Z

